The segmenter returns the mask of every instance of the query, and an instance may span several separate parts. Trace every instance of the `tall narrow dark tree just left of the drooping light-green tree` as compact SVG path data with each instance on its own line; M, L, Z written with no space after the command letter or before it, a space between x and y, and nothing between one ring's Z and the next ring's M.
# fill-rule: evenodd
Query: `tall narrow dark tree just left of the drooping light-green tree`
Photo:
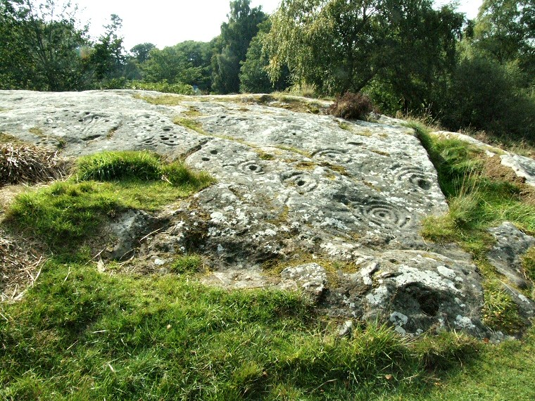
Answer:
M240 62L245 61L251 39L258 33L258 24L267 15L262 7L250 7L250 0L230 2L227 23L222 23L218 52L212 58L213 89L222 94L239 91Z

